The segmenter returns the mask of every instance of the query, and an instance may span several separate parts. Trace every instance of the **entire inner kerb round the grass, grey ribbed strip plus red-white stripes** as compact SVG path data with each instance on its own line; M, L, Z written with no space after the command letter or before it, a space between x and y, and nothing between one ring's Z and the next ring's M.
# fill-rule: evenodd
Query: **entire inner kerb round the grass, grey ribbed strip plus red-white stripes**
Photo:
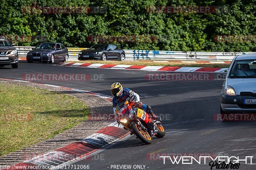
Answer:
M90 155L96 151L99 152L100 149L104 149L109 144L129 134L129 131L124 130L122 125L118 127L117 122L106 121L108 115L113 115L113 108L110 103L110 101L112 101L111 96L23 80L0 78L0 82L19 83L19 85L47 90L52 89L52 91L77 97L88 103L91 107L91 114L88 116L88 119L79 123L74 128L68 129L51 139L39 142L34 146L32 145L20 151L0 157L0 165L10 165L8 169L42 170L56 168L57 166L65 165L77 159L87 159L87 157L90 157ZM97 101L99 103L97 103ZM90 102L92 104L90 104ZM98 115L102 116L103 119L99 119L101 117ZM61 145L58 145L58 143ZM26 159L27 156L30 155L32 156Z

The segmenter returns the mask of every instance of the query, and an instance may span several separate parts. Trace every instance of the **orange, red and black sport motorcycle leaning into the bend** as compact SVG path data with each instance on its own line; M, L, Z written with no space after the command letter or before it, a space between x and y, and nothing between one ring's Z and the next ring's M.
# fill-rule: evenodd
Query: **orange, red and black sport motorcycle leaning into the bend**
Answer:
M160 121L153 120L148 113L134 106L134 96L124 103L124 107L115 115L108 116L108 120L117 117L118 126L120 123L124 129L129 130L145 144L152 143L152 137L162 138L165 130Z

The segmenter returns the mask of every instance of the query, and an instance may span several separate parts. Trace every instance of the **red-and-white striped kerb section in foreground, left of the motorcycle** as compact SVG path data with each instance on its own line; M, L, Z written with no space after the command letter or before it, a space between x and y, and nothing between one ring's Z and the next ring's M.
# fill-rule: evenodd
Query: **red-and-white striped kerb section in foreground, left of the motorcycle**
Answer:
M95 132L83 140L74 142L55 151L13 165L9 169L26 169L24 166L38 167L29 168L32 170L53 169L58 166L63 166L76 159L89 156L93 152L103 149L105 146L116 142L128 134L129 132L124 130L123 126L117 127L117 122L113 122L107 127Z

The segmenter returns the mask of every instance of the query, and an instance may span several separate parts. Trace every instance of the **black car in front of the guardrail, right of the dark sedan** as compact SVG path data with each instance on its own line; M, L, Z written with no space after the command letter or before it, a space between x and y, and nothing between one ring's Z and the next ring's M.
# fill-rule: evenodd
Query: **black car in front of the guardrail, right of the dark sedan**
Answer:
M78 60L125 60L125 52L114 44L95 44L78 54Z

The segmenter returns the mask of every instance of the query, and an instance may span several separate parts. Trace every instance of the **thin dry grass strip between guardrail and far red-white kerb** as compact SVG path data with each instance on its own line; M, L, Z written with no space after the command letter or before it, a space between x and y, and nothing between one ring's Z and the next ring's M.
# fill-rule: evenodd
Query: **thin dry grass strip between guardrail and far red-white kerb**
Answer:
M147 66L169 66L169 67L213 67L213 68L228 68L230 64L227 63L182 63L178 61L169 62L152 62L152 61L98 61L98 60L84 60L84 61L68 61L68 63L100 63L100 64L124 64L124 65L147 65Z

